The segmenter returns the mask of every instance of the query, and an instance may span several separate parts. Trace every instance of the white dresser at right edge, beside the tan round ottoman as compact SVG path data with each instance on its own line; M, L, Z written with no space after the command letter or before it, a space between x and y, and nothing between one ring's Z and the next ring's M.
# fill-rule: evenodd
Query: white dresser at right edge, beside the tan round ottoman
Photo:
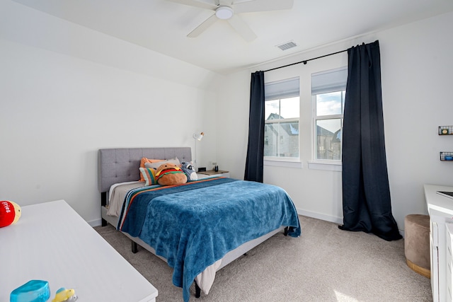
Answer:
M430 257L432 300L452 300L453 199L437 191L453 192L453 187L425 185L430 214Z

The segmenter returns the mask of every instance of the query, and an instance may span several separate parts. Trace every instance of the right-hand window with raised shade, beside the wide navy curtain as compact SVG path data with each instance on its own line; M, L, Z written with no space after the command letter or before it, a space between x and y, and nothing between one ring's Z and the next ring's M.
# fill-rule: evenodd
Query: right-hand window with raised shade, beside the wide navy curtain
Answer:
M314 161L341 162L341 138L348 69L311 75L314 103Z

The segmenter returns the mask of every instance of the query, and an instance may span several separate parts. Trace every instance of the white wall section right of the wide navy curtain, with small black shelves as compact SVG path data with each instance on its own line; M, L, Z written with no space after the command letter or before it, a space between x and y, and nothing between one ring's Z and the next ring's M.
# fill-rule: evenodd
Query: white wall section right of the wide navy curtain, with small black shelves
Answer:
M404 216L427 214L423 184L453 186L453 136L437 127L453 124L453 13L387 30L382 41L382 96L392 207Z

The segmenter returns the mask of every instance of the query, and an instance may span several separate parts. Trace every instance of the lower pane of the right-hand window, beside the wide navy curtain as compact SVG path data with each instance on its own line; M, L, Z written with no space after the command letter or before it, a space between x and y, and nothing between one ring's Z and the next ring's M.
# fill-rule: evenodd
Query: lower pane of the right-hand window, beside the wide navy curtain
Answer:
M341 120L316 121L316 158L341 159Z

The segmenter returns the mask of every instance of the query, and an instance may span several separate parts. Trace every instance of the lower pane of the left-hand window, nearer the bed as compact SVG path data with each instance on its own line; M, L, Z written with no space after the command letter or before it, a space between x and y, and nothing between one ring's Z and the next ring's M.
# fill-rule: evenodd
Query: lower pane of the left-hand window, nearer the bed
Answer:
M299 122L265 124L264 156L299 157Z

